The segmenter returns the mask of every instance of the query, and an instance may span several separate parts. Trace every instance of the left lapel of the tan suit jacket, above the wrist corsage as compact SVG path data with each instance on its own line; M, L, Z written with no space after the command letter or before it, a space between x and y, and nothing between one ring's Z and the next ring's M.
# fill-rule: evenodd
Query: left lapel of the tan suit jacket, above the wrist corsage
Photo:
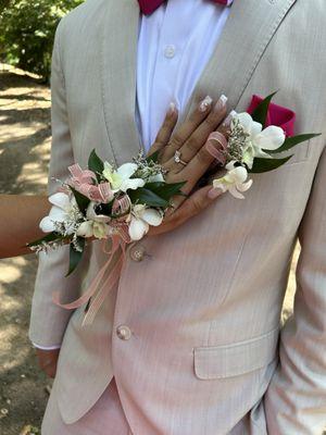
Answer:
M138 1L110 1L103 18L102 102L112 153L122 164L140 148L135 123Z

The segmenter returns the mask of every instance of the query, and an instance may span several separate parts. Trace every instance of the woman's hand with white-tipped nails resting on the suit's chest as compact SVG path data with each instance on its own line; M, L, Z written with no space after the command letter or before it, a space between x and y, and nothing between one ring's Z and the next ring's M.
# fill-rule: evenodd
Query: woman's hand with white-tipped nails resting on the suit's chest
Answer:
M183 192L187 196L215 161L218 142L208 141L210 134L217 130L227 138L229 121L225 120L225 97L221 97L214 107L213 101L206 97L173 134L178 114L176 110L170 110L149 151L149 156L160 151L159 162L168 171L167 183L187 181L183 187ZM181 162L175 161L176 151L179 152ZM221 192L213 190L212 186L204 186L187 199L183 196L175 197L173 210L165 214L160 226L151 226L148 235L153 236L178 227L209 207L220 195Z

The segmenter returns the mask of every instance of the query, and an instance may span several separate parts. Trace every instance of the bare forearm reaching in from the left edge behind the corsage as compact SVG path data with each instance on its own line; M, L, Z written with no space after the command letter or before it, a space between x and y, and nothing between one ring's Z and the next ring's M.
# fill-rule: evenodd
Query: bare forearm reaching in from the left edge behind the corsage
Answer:
M0 258L29 253L26 244L42 237L38 224L49 210L46 196L0 195Z

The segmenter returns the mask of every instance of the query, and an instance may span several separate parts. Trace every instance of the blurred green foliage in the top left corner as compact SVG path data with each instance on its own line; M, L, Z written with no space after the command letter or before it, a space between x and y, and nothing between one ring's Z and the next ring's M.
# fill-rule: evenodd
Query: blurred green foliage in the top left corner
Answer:
M83 0L0 0L0 60L48 82L60 18Z

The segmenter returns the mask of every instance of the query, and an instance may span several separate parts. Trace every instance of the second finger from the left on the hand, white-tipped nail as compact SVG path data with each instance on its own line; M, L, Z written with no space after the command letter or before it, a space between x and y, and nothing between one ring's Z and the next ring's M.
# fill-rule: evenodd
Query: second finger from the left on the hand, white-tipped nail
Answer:
M162 152L162 161L168 161L179 149L186 140L191 136L196 128L203 122L203 120L209 115L212 109L212 98L206 96L190 116L179 126L176 133L172 136L168 146Z

